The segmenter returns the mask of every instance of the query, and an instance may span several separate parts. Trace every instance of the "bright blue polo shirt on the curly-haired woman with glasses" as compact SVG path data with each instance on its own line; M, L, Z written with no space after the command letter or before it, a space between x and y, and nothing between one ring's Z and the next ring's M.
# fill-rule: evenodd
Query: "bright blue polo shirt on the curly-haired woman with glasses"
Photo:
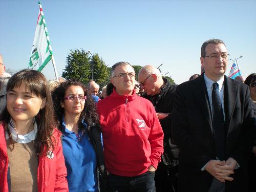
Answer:
M84 126L87 124L82 122ZM69 191L98 191L96 154L87 134L74 132L66 128L65 120L62 119L63 155L68 172Z

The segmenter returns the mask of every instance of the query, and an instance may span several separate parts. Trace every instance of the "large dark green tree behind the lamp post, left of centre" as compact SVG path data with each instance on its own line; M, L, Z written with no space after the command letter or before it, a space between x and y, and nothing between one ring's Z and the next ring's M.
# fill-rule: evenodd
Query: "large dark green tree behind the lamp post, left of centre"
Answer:
M66 79L75 78L84 84L92 79L92 58L89 53L83 49L70 50L67 56L67 65L62 71L61 76ZM96 53L93 55L94 80L100 87L108 83L109 70L105 66L105 62Z

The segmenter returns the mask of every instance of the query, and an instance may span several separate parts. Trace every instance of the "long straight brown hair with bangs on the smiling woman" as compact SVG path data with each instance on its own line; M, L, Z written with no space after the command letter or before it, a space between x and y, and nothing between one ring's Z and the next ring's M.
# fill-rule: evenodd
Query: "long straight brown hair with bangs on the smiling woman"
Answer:
M13 88L19 88L22 83L25 84L26 89L28 89L30 93L35 94L41 99L46 98L45 107L40 109L38 114L35 116L37 133L34 140L34 146L36 148L37 155L40 155L45 150L45 147L47 150L46 152L48 152L50 148L53 150L55 145L55 139L51 138L54 127L56 127L51 94L49 92L48 83L45 76L38 71L27 69L15 73L9 79L6 91L8 92ZM9 119L10 113L8 112L7 108L5 108L2 113L1 120L5 123L5 130L11 137L8 129Z

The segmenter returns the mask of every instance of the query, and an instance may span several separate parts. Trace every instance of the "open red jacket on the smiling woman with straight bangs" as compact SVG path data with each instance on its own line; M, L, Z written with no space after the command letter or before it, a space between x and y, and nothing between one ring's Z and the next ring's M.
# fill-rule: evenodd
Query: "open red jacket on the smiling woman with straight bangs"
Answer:
M53 158L47 156L38 157L37 186L38 191L69 191L66 179L67 169L62 154L60 141L61 133L54 130L53 135L56 139L53 150ZM44 153L43 153L44 154ZM4 123L0 124L0 191L8 192L8 155L5 138Z

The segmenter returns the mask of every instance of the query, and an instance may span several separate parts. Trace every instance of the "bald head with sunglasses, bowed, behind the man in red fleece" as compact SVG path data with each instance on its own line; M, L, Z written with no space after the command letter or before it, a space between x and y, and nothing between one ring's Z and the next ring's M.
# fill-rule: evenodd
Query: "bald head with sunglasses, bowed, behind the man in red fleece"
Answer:
M138 79L142 89L144 89L147 95L156 95L160 93L160 88L164 84L161 72L150 65L141 68Z

